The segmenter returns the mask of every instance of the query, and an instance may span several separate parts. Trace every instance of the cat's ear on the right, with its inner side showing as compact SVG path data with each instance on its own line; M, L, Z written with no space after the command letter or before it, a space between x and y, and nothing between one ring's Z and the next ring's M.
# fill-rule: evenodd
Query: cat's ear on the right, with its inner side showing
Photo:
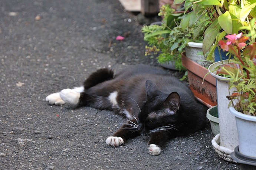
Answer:
M180 95L177 92L172 92L164 101L163 106L168 114L174 115L180 108Z

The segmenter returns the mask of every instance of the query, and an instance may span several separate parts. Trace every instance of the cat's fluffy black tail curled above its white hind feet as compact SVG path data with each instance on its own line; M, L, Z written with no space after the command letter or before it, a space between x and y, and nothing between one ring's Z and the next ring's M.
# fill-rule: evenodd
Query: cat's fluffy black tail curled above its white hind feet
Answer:
M89 89L101 82L108 81L114 78L114 72L108 68L102 68L93 72L86 80L83 82L85 89Z

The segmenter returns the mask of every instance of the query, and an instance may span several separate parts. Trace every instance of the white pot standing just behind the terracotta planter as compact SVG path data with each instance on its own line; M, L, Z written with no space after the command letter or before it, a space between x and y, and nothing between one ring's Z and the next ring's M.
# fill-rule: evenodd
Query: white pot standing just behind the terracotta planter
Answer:
M203 43L188 42L185 47L186 57L203 67L209 67L210 62L205 61L203 55Z

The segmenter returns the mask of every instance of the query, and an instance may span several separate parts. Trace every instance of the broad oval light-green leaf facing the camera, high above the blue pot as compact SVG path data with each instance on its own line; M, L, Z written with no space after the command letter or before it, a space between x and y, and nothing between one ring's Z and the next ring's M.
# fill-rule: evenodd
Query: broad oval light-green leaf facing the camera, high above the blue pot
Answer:
M232 33L232 18L230 16L229 11L226 11L224 14L221 14L218 17L218 22L221 28L226 31L227 34Z

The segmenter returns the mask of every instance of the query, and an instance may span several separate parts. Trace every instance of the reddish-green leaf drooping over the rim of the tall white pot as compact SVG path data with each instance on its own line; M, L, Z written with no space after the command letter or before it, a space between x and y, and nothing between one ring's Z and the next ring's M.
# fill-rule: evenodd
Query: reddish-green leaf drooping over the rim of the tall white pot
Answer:
M241 66L233 62L230 62L229 64L223 64L220 66L219 69L217 69L217 74L230 75L230 72L234 75L236 75L237 72L239 72L239 76L243 76Z

